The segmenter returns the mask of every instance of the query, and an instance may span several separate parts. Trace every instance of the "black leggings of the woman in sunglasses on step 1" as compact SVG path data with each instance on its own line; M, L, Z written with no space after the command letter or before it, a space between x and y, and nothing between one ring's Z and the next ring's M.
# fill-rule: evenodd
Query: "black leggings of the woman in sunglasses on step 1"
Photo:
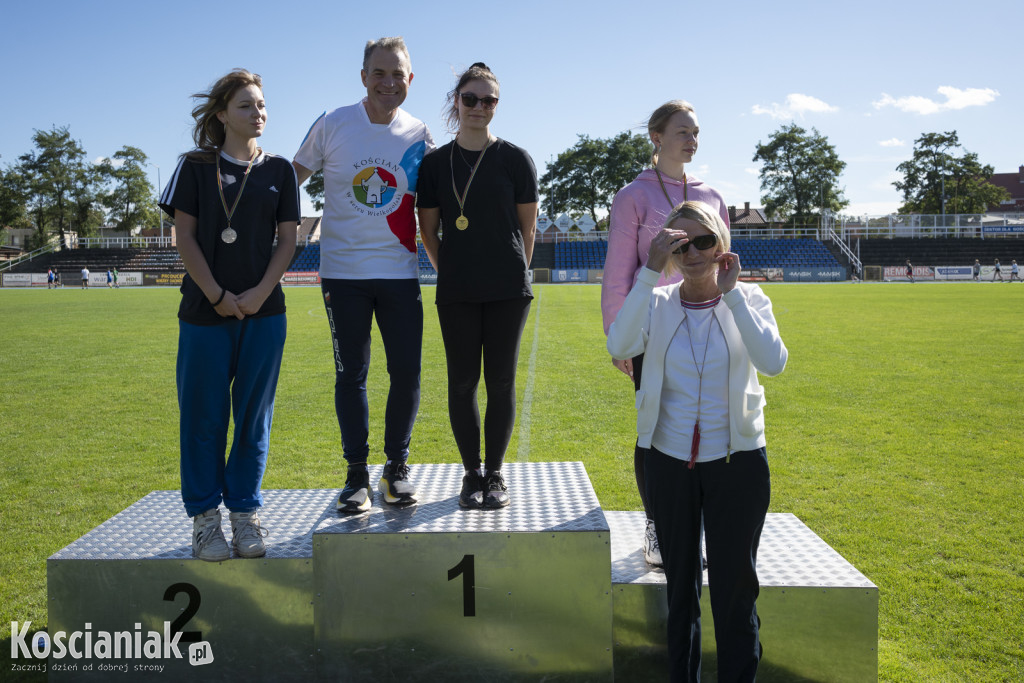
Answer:
M515 371L530 299L437 306L447 358L449 418L466 469L480 466L480 357L487 391L485 466L501 469L515 424Z

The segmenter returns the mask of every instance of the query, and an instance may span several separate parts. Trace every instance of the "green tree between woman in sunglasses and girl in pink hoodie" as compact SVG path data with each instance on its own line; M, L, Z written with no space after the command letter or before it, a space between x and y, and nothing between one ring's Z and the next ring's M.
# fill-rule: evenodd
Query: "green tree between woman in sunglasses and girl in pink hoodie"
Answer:
M589 213L611 210L611 201L650 160L650 140L643 135L620 133L592 139L580 135L577 143L558 155L541 176L541 205L549 216L566 211Z

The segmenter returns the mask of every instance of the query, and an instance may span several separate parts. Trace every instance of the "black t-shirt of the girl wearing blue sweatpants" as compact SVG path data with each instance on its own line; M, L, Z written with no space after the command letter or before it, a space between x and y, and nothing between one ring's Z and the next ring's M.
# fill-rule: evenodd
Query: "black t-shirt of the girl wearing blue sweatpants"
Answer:
M220 177L228 209L238 197L247 165L225 155L220 157ZM160 198L160 208L171 216L175 209L196 216L196 239L217 284L228 292L241 294L258 285L266 273L278 223L299 220L298 182L287 159L260 155L231 217L231 229L238 234L231 244L221 240L227 215L220 202L213 161L182 157ZM285 293L279 284L259 311L249 317L284 312ZM219 325L227 319L217 314L203 290L187 274L181 281L178 317L193 325Z

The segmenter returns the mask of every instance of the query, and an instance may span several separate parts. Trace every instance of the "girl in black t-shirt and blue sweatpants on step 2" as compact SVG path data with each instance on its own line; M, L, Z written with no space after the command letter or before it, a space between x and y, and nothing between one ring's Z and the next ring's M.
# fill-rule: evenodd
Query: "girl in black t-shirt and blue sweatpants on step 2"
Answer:
M280 283L295 252L298 183L287 160L257 145L266 124L258 75L232 71L194 97L197 150L181 157L160 203L174 217L187 271L178 308L181 498L196 557L231 555L221 501L234 553L261 557L267 531L256 510L285 347Z

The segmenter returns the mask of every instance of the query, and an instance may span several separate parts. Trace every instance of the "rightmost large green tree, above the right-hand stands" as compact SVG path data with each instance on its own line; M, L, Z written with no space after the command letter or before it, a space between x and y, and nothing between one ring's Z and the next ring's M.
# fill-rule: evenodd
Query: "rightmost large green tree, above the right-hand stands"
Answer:
M900 213L984 213L990 204L1010 199L1005 188L988 182L991 166L982 166L978 155L967 150L957 157L957 148L955 130L914 140L913 156L896 167L903 179L893 182L903 194Z

